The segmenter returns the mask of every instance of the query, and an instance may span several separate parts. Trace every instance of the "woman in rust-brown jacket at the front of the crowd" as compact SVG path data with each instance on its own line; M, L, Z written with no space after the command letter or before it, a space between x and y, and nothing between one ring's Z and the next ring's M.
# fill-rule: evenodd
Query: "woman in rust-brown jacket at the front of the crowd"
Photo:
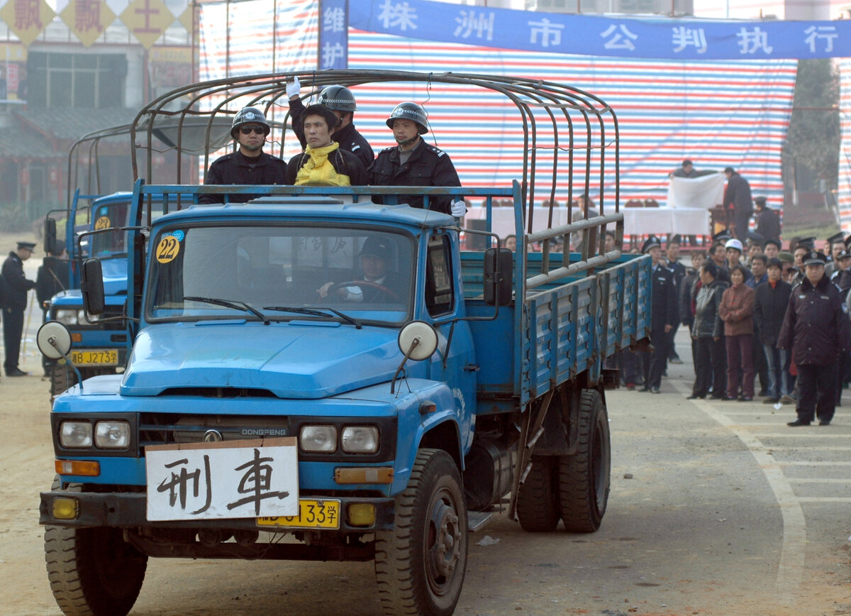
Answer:
M753 400L753 304L757 293L745 285L745 273L744 265L730 270L733 285L724 291L718 307L727 342L727 397L738 396L740 402Z

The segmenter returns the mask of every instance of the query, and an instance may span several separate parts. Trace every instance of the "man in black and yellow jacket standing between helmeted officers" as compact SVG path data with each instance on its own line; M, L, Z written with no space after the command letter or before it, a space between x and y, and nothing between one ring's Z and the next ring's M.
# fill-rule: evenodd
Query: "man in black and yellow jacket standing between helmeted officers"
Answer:
M306 107L305 151L289 159L287 183L295 186L366 186L367 172L355 154L331 139L340 120L324 105Z

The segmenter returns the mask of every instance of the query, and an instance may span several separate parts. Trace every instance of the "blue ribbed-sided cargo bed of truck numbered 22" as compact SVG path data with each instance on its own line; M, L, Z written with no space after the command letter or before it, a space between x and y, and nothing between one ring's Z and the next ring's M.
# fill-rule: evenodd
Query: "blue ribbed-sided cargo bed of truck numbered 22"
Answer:
M539 253L528 255L530 268L536 260ZM462 271L468 316L493 315L480 298L483 253L463 253ZM517 298L500 307L495 327L472 320L476 348L488 353L488 361L480 362L479 412L525 405L583 371L595 383L606 357L648 336L650 314L639 307L650 305L649 294L649 257L623 255L593 274L529 291L519 320Z

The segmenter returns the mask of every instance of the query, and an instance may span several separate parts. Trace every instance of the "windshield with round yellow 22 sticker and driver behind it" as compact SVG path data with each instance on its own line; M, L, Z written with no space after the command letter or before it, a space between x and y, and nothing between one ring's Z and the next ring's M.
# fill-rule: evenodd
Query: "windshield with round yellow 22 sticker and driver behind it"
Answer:
M410 319L414 241L402 233L180 227L158 233L152 246L146 302L151 322L239 318L398 325Z

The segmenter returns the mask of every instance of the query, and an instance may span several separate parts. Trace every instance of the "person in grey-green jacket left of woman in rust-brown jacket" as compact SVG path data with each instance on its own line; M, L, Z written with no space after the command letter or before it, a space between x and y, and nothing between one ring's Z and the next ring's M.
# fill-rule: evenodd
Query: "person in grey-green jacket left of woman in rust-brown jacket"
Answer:
M695 378L692 394L688 400L705 398L712 387L712 397L726 399L724 394L727 379L727 360L724 354L724 326L718 314L722 293L727 283L718 279L718 266L711 260L700 266L700 291L694 301L694 323L692 338L695 349Z

